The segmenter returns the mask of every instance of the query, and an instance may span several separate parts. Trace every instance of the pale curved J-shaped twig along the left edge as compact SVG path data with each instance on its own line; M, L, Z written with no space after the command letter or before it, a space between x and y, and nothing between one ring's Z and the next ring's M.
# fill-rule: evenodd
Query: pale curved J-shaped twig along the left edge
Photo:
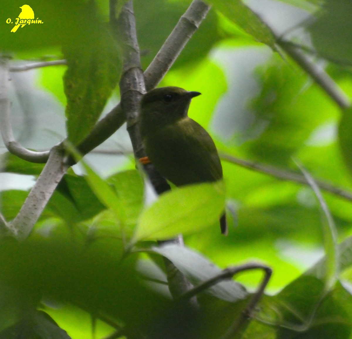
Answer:
M8 96L8 60L6 58L0 59L0 132L2 140L8 151L19 158L36 162L43 163L48 160L49 152L34 152L24 148L18 141L14 139L12 126L11 126L11 115L10 115L10 98Z

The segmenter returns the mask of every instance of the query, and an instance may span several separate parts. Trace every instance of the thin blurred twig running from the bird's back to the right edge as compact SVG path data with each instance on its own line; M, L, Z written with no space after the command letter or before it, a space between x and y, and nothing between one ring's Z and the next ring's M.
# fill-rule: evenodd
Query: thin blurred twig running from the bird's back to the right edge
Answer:
M248 161L248 160L243 160L236 158L232 155L226 154L226 153L220 153L220 158L232 162L233 164L240 165L245 168L253 169L254 171L262 172L265 174L269 174L272 177L279 178L279 179L284 179L284 180L290 180L294 181L295 183L300 183L300 184L305 184L309 185L308 181L306 178L304 178L304 175L291 172L291 171L286 171L284 169L280 169L274 166L269 166L269 165L263 165L255 161ZM338 186L334 186L327 181L323 180L315 180L316 184L321 188L322 190L331 192L341 198L347 199L352 201L352 193L348 192Z

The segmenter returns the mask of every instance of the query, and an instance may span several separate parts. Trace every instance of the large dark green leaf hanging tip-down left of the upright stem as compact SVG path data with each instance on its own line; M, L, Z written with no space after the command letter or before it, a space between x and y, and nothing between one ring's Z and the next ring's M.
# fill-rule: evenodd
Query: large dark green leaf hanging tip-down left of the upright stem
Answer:
M91 3L89 2L89 6ZM91 13L95 17L95 13ZM117 42L103 26L92 26L63 48L67 59L64 90L69 140L77 145L95 125L117 85L121 61Z

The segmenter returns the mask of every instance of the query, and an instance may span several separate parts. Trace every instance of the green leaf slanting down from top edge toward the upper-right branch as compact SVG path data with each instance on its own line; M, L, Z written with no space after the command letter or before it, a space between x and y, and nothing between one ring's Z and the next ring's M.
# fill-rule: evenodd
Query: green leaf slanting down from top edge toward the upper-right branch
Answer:
M215 9L253 38L275 50L275 37L268 25L241 0L208 0Z

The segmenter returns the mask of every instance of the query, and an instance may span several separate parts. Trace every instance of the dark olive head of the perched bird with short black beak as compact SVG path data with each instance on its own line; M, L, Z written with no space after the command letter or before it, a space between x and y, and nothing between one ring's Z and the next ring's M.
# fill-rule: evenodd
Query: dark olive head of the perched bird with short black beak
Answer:
M162 87L147 92L140 103L142 127L162 127L186 117L192 98L200 94L180 87Z

